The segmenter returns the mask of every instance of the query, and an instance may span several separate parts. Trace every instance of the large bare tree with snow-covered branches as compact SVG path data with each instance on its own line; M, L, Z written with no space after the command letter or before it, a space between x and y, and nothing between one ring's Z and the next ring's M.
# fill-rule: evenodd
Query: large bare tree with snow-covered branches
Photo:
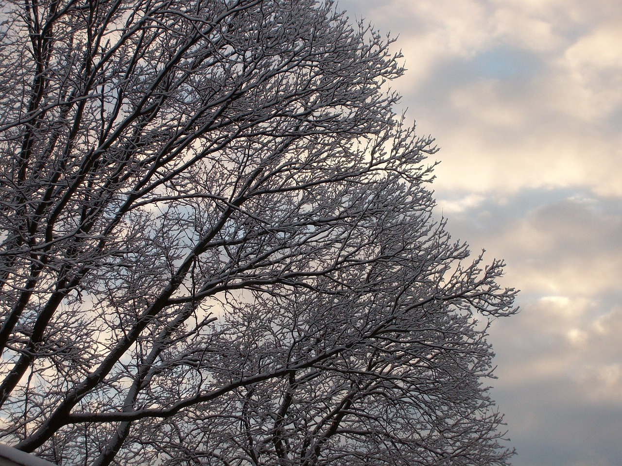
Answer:
M505 464L391 40L313 0L2 6L2 439L57 464Z

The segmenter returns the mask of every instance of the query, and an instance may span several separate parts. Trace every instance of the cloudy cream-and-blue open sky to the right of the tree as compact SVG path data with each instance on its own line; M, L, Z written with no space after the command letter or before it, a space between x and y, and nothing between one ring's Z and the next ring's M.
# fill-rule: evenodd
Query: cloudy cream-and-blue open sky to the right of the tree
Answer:
M622 465L622 2L338 8L397 37L438 209L521 290L489 337L513 465Z

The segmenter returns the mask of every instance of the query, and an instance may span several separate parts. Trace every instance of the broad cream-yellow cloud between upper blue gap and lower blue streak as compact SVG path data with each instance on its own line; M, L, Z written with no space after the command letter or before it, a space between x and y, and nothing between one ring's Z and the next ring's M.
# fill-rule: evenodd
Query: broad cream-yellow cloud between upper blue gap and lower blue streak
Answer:
M442 147L437 189L575 186L622 196L622 83L590 94L569 69L524 61L531 65L516 79L460 82L456 74L466 76L465 68L447 67L429 88L408 96L423 132Z

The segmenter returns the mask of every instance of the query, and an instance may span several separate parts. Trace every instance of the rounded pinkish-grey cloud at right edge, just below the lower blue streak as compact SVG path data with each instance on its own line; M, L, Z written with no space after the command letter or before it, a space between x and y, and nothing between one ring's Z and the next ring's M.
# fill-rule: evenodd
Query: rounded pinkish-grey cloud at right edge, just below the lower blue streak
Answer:
M564 199L515 221L504 239L521 286L545 295L592 296L617 290L622 270L622 212ZM508 236L516 235L514 244ZM527 260L525 260L527 258ZM518 277L517 277L518 278Z

